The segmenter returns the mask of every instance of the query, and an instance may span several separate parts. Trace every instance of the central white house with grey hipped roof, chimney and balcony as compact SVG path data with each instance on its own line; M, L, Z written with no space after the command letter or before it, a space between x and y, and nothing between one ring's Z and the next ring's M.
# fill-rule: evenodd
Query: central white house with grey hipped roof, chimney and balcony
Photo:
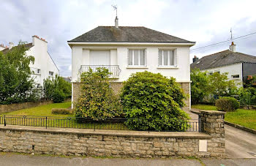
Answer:
M195 42L143 26L98 26L68 41L72 48L72 102L78 99L79 75L91 67L106 67L118 92L132 73L161 73L176 78L190 93L189 48ZM190 99L187 99L187 109Z

